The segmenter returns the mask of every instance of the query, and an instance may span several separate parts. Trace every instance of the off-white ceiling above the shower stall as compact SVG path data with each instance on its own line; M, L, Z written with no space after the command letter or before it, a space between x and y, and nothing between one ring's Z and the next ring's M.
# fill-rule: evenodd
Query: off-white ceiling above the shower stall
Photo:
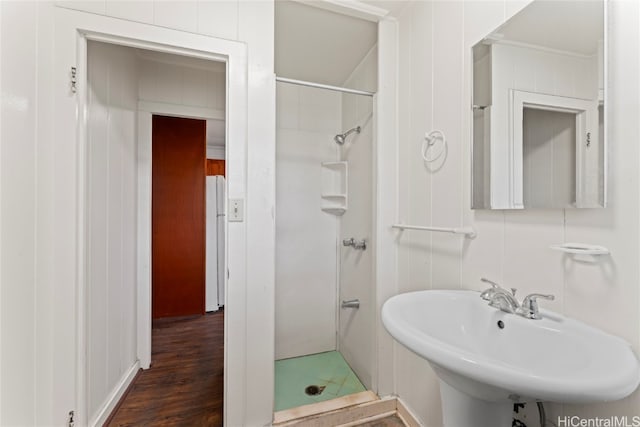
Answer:
M313 7L309 3L276 1L275 68L278 77L343 86L377 39L374 22Z

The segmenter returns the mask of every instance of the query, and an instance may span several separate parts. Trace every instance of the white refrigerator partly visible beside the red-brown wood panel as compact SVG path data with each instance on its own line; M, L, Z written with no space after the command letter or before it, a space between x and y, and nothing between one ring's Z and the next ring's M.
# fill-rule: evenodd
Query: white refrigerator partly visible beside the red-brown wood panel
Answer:
M224 306L226 194L223 176L207 176L205 310Z

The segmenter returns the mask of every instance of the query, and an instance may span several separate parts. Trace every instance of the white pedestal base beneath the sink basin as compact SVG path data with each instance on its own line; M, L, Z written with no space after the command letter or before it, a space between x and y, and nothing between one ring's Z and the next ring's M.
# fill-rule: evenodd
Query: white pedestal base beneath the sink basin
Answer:
M511 427L513 403L476 399L439 382L444 427Z

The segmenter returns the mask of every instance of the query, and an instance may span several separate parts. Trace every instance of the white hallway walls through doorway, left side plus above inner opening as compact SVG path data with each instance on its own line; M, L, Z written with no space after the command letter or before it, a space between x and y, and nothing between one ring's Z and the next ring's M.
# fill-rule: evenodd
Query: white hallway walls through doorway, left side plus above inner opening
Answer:
M90 42L88 52L87 405L97 420L136 362L138 101L224 117L225 75L203 60L111 44Z

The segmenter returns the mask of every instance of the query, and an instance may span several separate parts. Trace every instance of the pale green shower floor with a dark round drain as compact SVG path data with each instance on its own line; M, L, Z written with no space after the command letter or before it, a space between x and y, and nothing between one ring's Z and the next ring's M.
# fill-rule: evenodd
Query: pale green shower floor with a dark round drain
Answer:
M366 390L337 351L276 360L275 380L276 412ZM310 396L309 386L324 389Z

